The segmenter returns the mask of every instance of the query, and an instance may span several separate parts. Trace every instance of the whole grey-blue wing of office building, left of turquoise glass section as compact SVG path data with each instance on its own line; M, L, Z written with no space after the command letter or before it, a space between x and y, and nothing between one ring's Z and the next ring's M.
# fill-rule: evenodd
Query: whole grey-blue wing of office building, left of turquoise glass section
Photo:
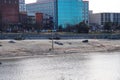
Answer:
M43 24L48 24L49 19L52 17L54 18L53 21L57 23L56 19L56 10L55 10L55 2L53 0L43 0L36 3L31 3L26 5L27 13L28 14L36 14L42 13L43 15ZM55 24L57 25L57 24ZM52 28L54 26L51 26Z

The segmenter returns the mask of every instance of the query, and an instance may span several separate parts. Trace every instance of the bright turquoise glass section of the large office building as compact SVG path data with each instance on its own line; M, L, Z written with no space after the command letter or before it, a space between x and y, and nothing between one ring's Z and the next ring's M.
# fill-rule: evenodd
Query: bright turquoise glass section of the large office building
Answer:
M81 0L58 0L58 25L63 27L83 21Z

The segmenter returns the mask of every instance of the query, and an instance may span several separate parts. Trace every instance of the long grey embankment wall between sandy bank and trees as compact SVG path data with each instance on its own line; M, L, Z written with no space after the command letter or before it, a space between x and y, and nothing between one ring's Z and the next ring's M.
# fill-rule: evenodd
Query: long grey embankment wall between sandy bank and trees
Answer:
M120 39L120 34L54 34L54 37L60 39ZM24 39L49 39L52 37L51 34L0 34L0 39L15 39L22 37Z

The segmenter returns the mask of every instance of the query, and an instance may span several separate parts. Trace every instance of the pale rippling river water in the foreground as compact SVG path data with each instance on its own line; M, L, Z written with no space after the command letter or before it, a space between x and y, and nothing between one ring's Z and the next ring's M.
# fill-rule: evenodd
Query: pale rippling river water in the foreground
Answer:
M119 53L2 60L0 80L120 80Z

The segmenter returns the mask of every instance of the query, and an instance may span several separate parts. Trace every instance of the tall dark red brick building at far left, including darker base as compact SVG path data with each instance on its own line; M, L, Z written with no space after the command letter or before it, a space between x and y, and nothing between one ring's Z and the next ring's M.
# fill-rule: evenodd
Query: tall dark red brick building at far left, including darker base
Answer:
M0 0L0 31L17 30L19 0Z

